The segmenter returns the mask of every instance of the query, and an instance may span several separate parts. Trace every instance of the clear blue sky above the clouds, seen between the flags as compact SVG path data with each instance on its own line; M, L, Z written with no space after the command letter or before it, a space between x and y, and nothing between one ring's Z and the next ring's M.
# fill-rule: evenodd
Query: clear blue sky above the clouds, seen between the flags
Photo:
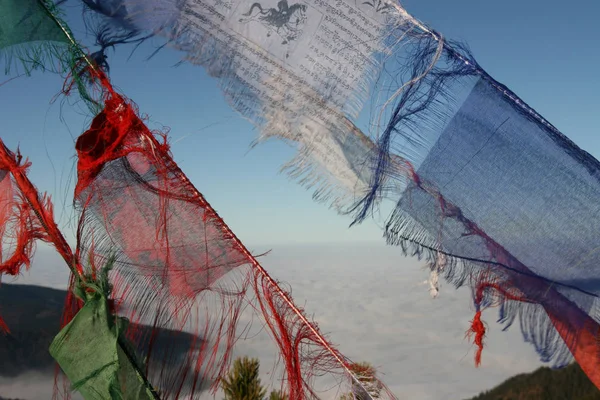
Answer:
M406 0L403 5L447 38L466 42L492 76L600 157L595 40L600 2ZM77 16L69 10L74 34L83 40ZM127 49L110 52L113 84L150 116L151 127L170 127L176 161L243 241L272 247L382 240L372 222L348 229L348 218L315 203L310 191L279 174L293 155L286 145L272 142L250 151L257 132L231 111L200 67L174 68L180 54L172 50L145 61L148 54L148 48L141 49L128 61ZM36 73L0 86L0 135L12 148L20 144L33 161L32 180L53 195L68 229L73 143L90 116L60 100L51 104L61 85L57 76Z

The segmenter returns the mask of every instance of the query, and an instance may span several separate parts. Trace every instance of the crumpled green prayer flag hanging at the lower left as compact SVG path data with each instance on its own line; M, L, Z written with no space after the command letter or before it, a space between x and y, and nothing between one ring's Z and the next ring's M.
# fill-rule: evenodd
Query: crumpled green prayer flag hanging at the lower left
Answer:
M75 294L85 305L54 338L50 354L86 400L156 399L123 335L127 320L110 313L107 269L96 282L78 283Z

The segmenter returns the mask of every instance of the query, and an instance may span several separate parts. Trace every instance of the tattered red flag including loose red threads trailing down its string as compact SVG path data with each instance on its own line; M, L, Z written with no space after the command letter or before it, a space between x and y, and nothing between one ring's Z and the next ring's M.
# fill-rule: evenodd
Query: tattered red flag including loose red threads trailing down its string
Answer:
M143 368L160 398L192 396L211 382L216 390L252 319L275 339L283 371L272 383L290 399L317 398L315 376L339 386L350 361L229 230L132 104L108 83L106 91L104 110L77 140L78 254L100 265L115 252L111 301L130 326L151 327L125 336L147 356ZM240 331L244 308L254 311ZM174 351L182 335L191 336L183 354Z

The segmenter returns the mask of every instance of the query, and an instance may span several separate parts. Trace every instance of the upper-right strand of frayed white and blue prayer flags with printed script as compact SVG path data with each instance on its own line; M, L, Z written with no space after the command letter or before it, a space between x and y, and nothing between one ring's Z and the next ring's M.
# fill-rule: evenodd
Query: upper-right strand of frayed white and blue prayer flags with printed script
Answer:
M600 163L465 46L390 0L83 3L92 33L161 36L203 66L260 140L297 148L285 169L317 200L353 223L391 208L385 237L427 258L434 290L473 288L480 347L498 306L600 387Z

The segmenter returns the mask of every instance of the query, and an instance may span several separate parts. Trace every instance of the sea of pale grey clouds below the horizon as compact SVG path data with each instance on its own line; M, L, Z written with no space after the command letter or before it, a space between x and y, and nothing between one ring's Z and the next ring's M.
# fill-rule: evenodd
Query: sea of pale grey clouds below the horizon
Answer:
M470 291L443 285L440 296L431 299L423 262L403 257L398 248L278 246L261 260L275 278L292 287L296 303L341 352L375 365L400 399L465 399L541 365L518 326L502 331L495 323L497 312L488 310L482 365L475 368L475 348L465 339L473 318ZM67 272L54 253L42 248L31 270L15 283L64 289ZM235 355L258 357L265 366L263 381L269 382L267 366L272 364L274 347L267 336L240 342ZM51 398L52 382L52 376L33 372L0 377L0 396L46 400Z

